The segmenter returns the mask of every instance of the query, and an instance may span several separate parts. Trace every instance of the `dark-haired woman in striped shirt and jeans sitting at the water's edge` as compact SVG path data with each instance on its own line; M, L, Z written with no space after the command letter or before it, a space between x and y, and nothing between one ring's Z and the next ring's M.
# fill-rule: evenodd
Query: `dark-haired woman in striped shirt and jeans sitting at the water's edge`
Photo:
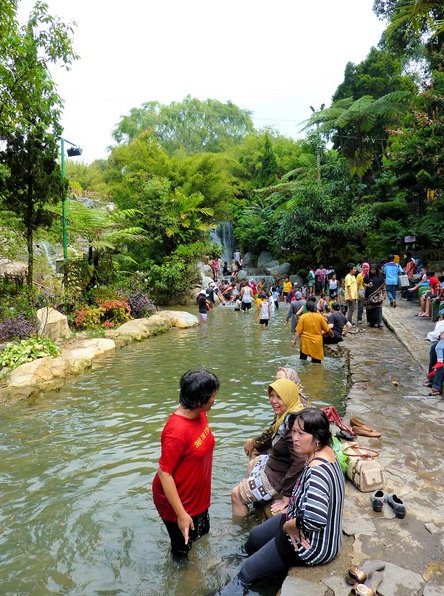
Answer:
M287 513L251 531L245 545L251 556L236 580L243 585L286 573L289 567L322 565L339 553L344 475L330 446L327 417L321 410L307 408L291 418L294 450L306 456L305 468Z

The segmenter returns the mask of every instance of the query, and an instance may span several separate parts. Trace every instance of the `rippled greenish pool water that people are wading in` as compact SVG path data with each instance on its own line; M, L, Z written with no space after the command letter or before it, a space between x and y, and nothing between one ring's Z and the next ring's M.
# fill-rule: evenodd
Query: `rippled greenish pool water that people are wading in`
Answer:
M231 519L229 492L246 465L242 445L272 418L267 384L293 365L318 404L343 398L341 360L300 362L284 309L261 330L255 313L218 307L207 325L133 344L59 393L1 412L2 594L200 595L232 577L255 512ZM159 437L178 379L205 366L221 388L209 414L216 436L211 532L189 563L172 562L151 500ZM252 594L276 594L266 583Z

